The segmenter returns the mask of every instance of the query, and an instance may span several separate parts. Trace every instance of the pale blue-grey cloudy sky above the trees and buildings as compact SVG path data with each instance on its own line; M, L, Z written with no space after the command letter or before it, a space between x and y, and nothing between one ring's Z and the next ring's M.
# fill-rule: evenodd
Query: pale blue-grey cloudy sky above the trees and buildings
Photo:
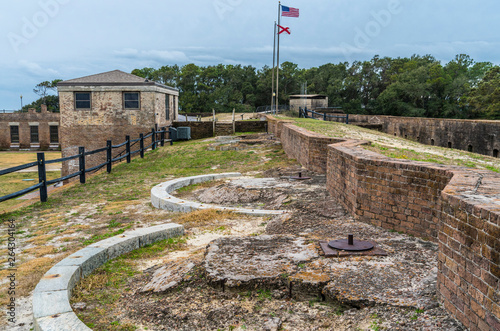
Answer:
M374 55L456 54L500 64L498 0L285 0L281 60L309 68ZM276 0L0 3L0 110L45 80L162 65L272 64Z

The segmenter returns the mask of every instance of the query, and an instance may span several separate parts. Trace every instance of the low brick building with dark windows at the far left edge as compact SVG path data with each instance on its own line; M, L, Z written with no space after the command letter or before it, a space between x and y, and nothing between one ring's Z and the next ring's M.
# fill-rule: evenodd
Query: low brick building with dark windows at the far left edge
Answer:
M27 113L0 114L0 149L59 149L59 113L42 105L39 113L29 109Z

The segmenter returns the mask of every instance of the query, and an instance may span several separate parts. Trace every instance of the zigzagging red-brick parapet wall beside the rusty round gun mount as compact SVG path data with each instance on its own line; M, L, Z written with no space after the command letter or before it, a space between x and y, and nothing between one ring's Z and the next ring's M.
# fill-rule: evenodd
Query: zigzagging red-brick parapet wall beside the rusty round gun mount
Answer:
M269 121L287 155L310 167L301 142L312 133ZM446 309L470 330L500 330L500 175L390 159L363 143L328 145L329 192L361 221L438 242Z

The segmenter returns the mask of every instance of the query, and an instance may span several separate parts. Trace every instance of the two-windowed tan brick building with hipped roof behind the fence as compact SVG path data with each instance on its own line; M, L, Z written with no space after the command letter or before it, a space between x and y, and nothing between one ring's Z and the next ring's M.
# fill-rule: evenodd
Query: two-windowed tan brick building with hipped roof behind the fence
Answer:
M57 85L61 112L62 156L93 150L166 127L178 116L175 88L114 70L62 81ZM87 168L105 161L105 153L89 156ZM78 161L65 162L63 176L78 171Z

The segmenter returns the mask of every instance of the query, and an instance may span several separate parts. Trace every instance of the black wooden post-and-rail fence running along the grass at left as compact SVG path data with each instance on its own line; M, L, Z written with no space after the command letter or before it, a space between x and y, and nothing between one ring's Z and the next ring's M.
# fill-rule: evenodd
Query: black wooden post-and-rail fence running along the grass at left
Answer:
M172 145L172 139L170 139L170 134L169 134L169 139L165 139L166 134L169 133L169 131L166 130L166 128L162 128L160 131L157 131L155 128L151 129L151 132L148 133L147 135L140 134L139 138L137 139L130 139L130 136L125 137L125 142L118 144L118 145L113 145L111 143L111 140L108 140L106 142L106 147L99 148L93 151L85 151L85 147L79 147L78 148L78 154L69 156L69 157L63 157L60 159L55 159L55 160L50 160L46 161L45 160L45 153L37 153L37 161L36 162L31 162L27 164L23 164L20 166L0 170L0 176L7 175L13 172L21 171L27 168L31 167L36 167L38 166L38 184L33 185L31 187L25 188L23 190L5 195L3 197L0 197L0 202L14 199L17 197L20 197L26 193L35 191L35 190L40 190L40 201L41 202L47 202L47 187L52 184L56 184L74 177L80 177L80 183L84 184L86 180L86 174L90 172L95 172L98 171L104 167L106 167L106 170L108 173L111 172L111 168L114 162L119 162L123 159L127 160L127 163L130 163L132 156L139 153L141 158L144 158L144 151L147 149L151 148L155 150L158 147L158 144L160 146L164 146L165 142L170 142L170 145ZM158 139L159 137L159 139ZM148 145L145 145L146 139L151 138L151 143ZM149 139L148 139L149 140ZM139 149L132 151L132 147L136 144L139 144ZM113 149L116 148L122 148L125 147L125 149L118 153L115 158L112 157L113 155ZM85 166L85 157L97 153L104 153L106 152L106 162L101 163L95 167L87 169ZM65 161L70 161L70 160L79 160L79 169L77 172L72 173L70 175L52 179L52 180L47 180L47 171L46 171L46 165L52 164L52 163L58 163L58 162L65 162Z

